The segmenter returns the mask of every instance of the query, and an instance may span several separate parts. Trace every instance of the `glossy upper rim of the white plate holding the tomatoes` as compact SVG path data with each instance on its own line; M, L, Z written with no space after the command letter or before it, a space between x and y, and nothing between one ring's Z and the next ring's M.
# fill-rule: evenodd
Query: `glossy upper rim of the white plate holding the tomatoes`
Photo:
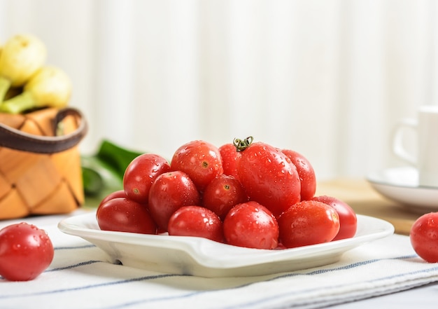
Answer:
M362 214L357 214L357 217L358 231L360 231L360 228L364 228L364 226L362 226L362 221L364 221L365 223L367 221L372 221L374 222L374 224L377 224L379 228L374 228L374 230L376 231L369 231L364 235L355 235L353 238L347 238L344 240L336 240L317 245L309 245L290 249L273 250L236 247L232 245L222 244L220 242L214 242L213 240L208 240L206 238L195 238L190 236L146 235L115 231L101 231L97 229L87 228L85 226L87 222L97 224L97 221L95 219L95 212L91 212L88 214L79 214L63 219L62 221L59 221L58 228L63 233L78 236L80 238L83 238L84 240L87 240L88 242L93 243L94 245L96 244L90 239L104 242L114 242L113 240L108 240L108 237L122 238L123 240L128 239L129 242L116 242L124 243L127 245L143 245L148 247L183 250L186 254L189 254L199 266L203 266L205 268L230 269L256 266L266 263L297 261L299 259L302 259L303 256L314 256L325 252L339 252L339 254L343 254L344 252L353 249L354 247L358 247L367 242L371 242L392 235L395 231L393 224L390 224L386 220L365 216ZM94 220L92 218L94 218ZM87 219L88 221L83 221L81 225L80 219ZM365 226L365 231L366 228L367 227ZM161 240L166 241L157 242L157 237L160 237L162 238ZM145 240L148 240L149 242L155 242L155 244L145 244ZM99 247L99 245L97 245L97 247ZM225 251L225 254L214 256L214 259L212 259L212 256L208 256L204 252L206 249L208 250L211 247L213 247L213 249L223 249ZM99 249L102 248L99 247ZM230 250L237 255L227 256ZM231 257L233 259L231 259ZM236 257L238 259L236 259Z

